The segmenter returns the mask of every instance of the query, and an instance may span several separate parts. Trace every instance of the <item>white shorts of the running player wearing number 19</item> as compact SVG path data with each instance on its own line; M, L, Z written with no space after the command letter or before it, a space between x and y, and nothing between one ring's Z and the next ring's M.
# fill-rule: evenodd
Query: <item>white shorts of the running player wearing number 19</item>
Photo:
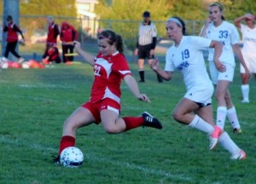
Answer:
M189 99L190 101L195 101L199 106L208 106L212 104L212 89L204 89L195 91L189 90L185 95L184 98Z

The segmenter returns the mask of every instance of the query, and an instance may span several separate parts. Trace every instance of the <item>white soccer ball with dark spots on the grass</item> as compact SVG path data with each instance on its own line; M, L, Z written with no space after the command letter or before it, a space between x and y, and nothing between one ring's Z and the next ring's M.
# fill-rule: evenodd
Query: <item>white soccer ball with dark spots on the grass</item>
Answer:
M61 152L61 165L64 167L79 167L84 162L84 155L78 147L67 147Z

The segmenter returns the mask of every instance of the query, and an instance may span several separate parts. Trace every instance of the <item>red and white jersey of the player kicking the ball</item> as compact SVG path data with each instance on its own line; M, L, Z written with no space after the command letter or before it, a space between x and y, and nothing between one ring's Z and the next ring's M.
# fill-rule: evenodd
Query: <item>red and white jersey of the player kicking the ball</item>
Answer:
M95 103L105 98L120 102L121 79L131 75L125 56L118 51L113 55L104 56L99 53L95 58L95 80L90 93L90 101Z

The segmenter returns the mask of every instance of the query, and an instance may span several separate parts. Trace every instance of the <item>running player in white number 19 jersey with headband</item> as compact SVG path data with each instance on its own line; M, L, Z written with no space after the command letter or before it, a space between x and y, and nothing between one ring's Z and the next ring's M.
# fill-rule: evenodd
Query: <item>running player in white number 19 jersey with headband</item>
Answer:
M174 42L166 53L165 70L160 68L158 60L154 60L151 68L165 80L172 79L172 73L177 70L183 75L187 92L178 102L172 117L181 124L199 129L210 135L212 150L219 142L231 153L232 159L244 159L246 153L237 147L230 136L213 123L212 94L213 85L207 74L202 49L214 49L214 63L219 70L224 71L224 66L219 60L222 44L204 37L185 35L185 24L177 16L166 21L167 36Z

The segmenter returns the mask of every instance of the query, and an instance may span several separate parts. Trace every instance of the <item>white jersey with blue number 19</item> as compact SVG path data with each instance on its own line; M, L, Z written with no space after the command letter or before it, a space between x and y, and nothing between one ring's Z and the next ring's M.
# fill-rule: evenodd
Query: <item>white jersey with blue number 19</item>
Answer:
M172 45L167 50L165 71L181 72L187 90L213 89L202 54L211 42L204 37L183 36L177 47Z

